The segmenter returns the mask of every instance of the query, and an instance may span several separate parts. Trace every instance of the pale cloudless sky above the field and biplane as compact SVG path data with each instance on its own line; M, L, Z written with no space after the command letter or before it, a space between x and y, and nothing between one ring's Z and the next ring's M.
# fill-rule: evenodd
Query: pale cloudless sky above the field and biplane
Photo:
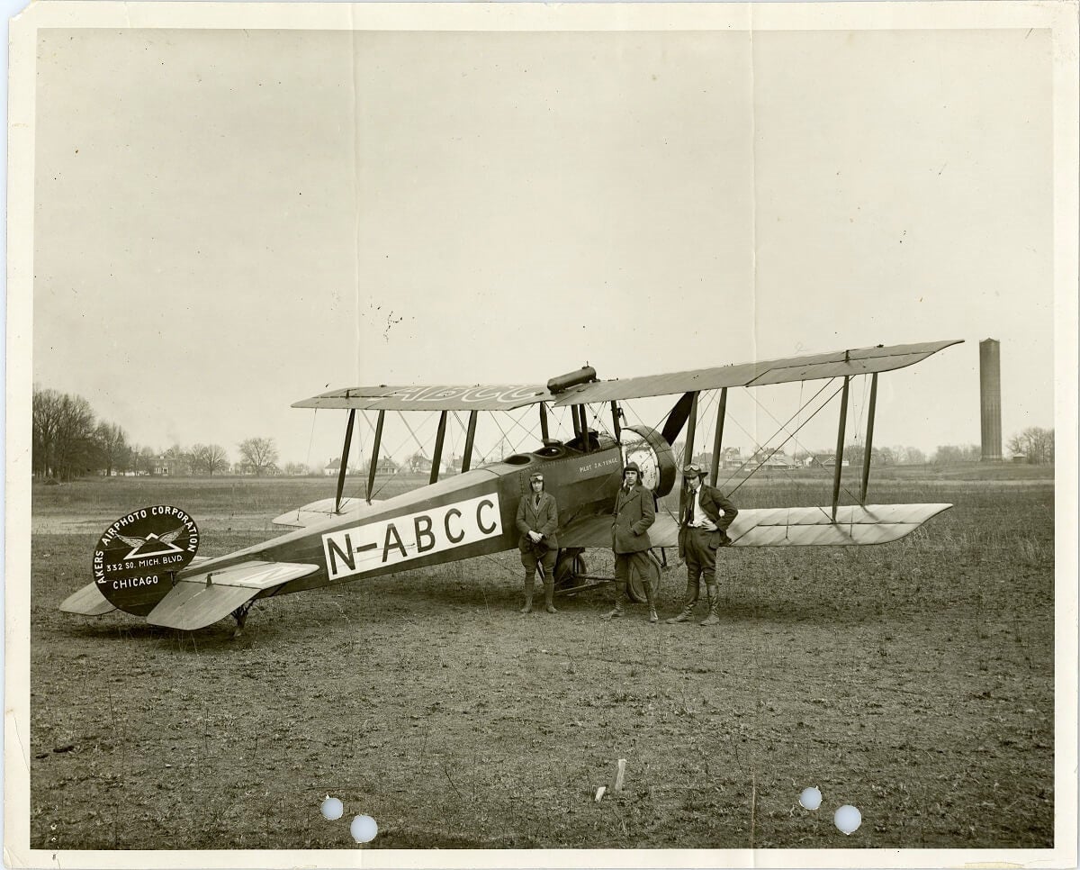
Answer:
M42 30L33 380L156 450L318 466L345 414L289 405L327 389L962 338L880 379L875 444L932 453L980 443L993 337L1003 440L1052 427L1050 55L1039 29ZM819 386L733 396L725 443ZM788 447L831 449L836 413ZM394 425L430 455L433 420Z

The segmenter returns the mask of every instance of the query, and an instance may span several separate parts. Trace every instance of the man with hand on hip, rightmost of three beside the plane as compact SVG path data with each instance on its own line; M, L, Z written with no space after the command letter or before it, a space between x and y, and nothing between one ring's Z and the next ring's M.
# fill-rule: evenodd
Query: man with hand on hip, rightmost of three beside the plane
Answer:
M716 551L729 544L727 527L731 525L739 510L724 493L704 481L701 467L691 463L683 469L683 482L687 487L686 505L679 517L678 558L686 560L686 600L678 616L667 623L685 623L693 616L698 603L699 579L704 575L708 593L708 615L699 625L715 626L720 621L716 615L719 606L719 590L716 587Z

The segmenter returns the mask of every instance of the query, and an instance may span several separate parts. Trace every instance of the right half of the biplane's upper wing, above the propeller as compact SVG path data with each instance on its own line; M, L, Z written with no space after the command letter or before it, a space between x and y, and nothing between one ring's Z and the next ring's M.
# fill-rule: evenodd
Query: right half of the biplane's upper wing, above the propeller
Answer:
M892 347L879 345L858 350L837 350L831 353L762 360L741 365L696 369L690 372L675 372L667 375L598 380L570 387L565 392L561 392L555 406L697 392L720 389L721 387L764 387L769 384L889 372L893 369L914 365L932 353L950 345L960 344L962 340L928 342L921 345L893 345Z

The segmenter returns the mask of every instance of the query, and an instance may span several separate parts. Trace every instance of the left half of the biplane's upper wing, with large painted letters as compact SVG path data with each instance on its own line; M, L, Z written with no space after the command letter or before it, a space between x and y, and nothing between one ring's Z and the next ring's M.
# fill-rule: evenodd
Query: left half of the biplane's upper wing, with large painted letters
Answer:
M349 387L313 396L293 407L354 407L360 411L511 411L550 402L546 387L501 385Z

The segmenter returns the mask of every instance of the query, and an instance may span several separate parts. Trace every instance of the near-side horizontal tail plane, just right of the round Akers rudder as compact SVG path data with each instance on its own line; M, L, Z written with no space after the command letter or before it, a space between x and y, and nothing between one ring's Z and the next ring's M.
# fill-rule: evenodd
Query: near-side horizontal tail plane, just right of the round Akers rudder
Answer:
M259 592L306 577L319 565L297 562L242 562L177 581L146 617L150 625L193 631L222 619Z

